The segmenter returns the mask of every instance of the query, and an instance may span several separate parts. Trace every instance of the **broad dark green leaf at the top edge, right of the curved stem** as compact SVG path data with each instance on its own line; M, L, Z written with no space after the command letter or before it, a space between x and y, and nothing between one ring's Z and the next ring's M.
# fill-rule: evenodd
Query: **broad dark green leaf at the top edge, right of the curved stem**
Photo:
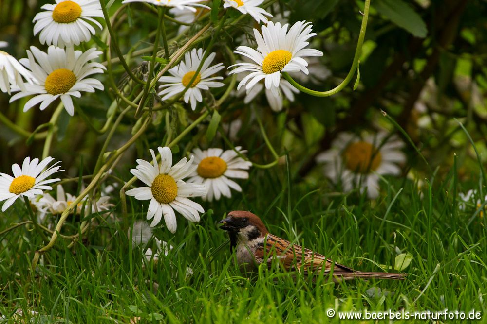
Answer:
M426 24L414 11L414 9L403 0L376 0L374 7L379 14L390 19L397 26L404 28L416 37L424 38L428 33Z

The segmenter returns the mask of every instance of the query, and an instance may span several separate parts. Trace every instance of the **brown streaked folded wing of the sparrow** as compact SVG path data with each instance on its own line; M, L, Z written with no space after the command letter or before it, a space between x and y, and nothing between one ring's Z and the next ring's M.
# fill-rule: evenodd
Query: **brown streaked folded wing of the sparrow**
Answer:
M267 262L270 268L274 259L273 256L288 271L318 274L324 268L324 273L329 273L332 269L333 273L336 274L354 273L353 269L335 263L319 253L303 248L298 244L293 244L275 235L268 234L263 244L257 247L255 258L257 263Z

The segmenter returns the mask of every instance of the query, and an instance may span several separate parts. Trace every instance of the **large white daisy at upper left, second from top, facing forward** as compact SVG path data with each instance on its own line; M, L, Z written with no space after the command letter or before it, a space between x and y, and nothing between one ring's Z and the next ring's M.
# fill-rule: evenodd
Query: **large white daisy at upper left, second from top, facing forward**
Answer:
M73 47L61 49L49 46L47 53L35 46L27 50L29 59L21 59L26 68L29 68L38 85L24 84L25 90L16 93L10 102L30 95L36 95L24 106L24 112L41 102L40 110L44 110L57 98L61 98L64 108L71 116L75 113L71 96L81 97L80 91L94 92L103 90L99 80L86 78L95 73L103 73L105 67L100 63L89 62L97 58L102 52L91 48L85 52L75 51ZM37 62L36 62L37 60Z

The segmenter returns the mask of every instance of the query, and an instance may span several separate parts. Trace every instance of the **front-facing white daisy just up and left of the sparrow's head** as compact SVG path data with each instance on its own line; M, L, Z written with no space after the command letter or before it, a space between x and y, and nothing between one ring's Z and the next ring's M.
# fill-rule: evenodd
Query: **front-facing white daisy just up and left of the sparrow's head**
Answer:
M162 216L171 233L176 232L176 215L174 210L183 215L190 222L199 222L200 214L204 213L203 207L188 199L188 197L200 197L206 195L207 188L203 184L186 183L186 178L197 166L193 166L193 159L181 159L174 166L172 165L172 153L169 147L158 147L161 154L161 165L159 166L153 150L150 150L153 165L149 162L137 159L138 166L132 169L131 173L148 187L131 189L126 192L138 200L150 200L147 219L153 218L151 227L157 225Z

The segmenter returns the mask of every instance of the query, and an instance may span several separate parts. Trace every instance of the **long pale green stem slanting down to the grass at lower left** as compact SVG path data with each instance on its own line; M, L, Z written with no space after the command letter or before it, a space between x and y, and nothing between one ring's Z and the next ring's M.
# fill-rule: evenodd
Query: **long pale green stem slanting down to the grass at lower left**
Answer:
M75 201L69 205L61 214L61 217L59 218L59 221L57 222L56 224L56 228L54 230L54 233L51 237L51 239L49 240L49 243L47 245L45 245L44 247L42 247L41 249L37 250L35 255L34 255L34 258L32 259L32 269L36 269L36 266L37 266L37 263L39 261L39 257L42 253L48 251L49 249L51 249L54 244L56 243L56 240L57 240L57 237L58 237L58 233L61 231L61 228L64 224L64 222L66 222L66 219L68 218L68 215L69 213L71 212L71 210L73 210L75 208L75 206L77 206L81 200L83 200L83 198L90 192L93 190L93 188L98 184L98 181L100 180L100 178L103 176L103 174L108 171L112 165L118 160L119 156L121 156L129 147L131 147L131 145L142 135L144 134L147 126L149 125L150 123L150 120L151 120L151 117L152 115L151 114L148 114L146 119L144 120L144 122L142 123L142 126L140 127L140 129L137 131L137 133L135 133L128 141L127 143L125 143L124 145L122 145L118 150L114 151L112 156L110 157L110 159L108 159L108 161L100 168L100 170L98 171L98 173L96 173L96 175L94 175L92 181L90 182L90 184L79 194L79 196L75 199Z

